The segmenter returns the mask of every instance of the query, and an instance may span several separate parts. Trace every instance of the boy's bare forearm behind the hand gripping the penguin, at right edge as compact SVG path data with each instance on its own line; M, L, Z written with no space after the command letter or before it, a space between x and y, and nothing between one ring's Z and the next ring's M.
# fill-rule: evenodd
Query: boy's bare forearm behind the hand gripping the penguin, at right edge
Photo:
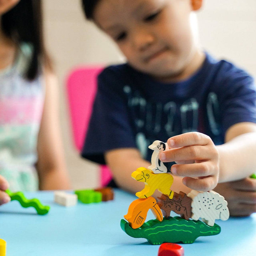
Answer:
M256 171L256 132L241 134L217 149L219 182L240 180Z

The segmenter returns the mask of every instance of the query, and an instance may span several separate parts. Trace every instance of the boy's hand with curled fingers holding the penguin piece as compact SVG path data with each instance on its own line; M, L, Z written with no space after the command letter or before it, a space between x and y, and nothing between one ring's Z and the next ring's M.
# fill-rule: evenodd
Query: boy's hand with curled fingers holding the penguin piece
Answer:
M189 132L167 140L171 149L160 154L162 162L173 162L171 172L184 176L182 182L198 191L209 191L219 180L219 154L209 136Z

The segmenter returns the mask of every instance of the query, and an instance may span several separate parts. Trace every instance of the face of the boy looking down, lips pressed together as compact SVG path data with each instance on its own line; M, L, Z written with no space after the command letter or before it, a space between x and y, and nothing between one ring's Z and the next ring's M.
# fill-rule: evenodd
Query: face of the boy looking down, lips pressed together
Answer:
M190 69L197 48L191 0L101 0L94 21L135 69L168 81Z

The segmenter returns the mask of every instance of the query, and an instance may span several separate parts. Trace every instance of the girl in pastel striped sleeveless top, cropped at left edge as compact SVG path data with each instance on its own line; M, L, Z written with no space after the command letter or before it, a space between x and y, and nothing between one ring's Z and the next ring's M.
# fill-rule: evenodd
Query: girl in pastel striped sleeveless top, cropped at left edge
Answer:
M0 2L0 204L4 192L68 189L57 79L44 49L40 0Z

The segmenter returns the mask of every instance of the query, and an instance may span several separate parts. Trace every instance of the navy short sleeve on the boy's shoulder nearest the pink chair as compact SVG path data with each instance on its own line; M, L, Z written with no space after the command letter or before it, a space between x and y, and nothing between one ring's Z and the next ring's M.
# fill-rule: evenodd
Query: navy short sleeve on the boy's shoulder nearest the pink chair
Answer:
M82 157L105 164L106 151L136 147L122 87L122 80L108 68L98 76L98 90Z

